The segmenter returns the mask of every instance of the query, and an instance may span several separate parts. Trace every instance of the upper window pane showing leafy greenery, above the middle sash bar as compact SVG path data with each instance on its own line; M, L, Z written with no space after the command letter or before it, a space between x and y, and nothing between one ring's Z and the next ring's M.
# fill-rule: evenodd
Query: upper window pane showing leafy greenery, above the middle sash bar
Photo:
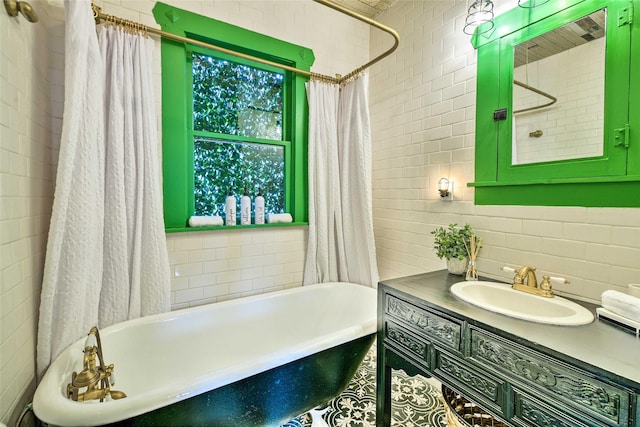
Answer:
M193 55L193 128L282 140L282 74Z

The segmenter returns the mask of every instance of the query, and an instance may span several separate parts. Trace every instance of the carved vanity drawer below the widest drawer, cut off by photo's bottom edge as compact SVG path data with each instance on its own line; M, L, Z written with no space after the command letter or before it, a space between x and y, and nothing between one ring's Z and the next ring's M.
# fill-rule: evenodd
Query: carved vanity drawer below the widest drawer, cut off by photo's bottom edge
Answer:
M514 415L511 422L518 427L607 427L608 425L585 416L576 419L569 415L569 413L576 415L570 408L566 408L566 411L552 408L517 389L514 390L513 404Z

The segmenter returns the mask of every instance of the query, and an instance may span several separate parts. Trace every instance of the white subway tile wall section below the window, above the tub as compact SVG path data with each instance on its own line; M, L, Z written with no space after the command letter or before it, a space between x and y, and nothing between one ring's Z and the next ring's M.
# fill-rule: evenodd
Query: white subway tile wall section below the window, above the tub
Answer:
M307 227L167 235L172 308L300 286Z

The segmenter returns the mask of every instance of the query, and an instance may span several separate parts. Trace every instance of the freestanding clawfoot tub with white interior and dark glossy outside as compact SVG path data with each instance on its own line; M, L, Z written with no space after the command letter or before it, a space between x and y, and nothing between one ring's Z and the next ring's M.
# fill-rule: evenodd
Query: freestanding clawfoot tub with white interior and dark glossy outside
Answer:
M33 408L59 426L280 425L338 395L375 331L375 290L348 283L143 317L100 331L112 388L126 398L67 399L83 338L51 364Z

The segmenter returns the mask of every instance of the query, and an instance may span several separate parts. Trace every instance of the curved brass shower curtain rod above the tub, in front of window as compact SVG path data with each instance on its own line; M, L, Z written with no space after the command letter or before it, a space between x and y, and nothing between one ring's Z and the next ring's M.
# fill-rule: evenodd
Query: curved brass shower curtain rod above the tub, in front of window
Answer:
M218 52L222 52L222 53L226 53L229 55L233 55L239 58L244 58L244 59L249 59L251 61L255 61L255 62L259 62L261 64L265 64L265 65L270 65L272 67L277 67L277 68L281 68L287 71L291 71L297 74L302 74L304 76L307 77L313 77L313 78L317 78L319 80L323 80L323 81L328 81L331 83L337 83L337 84L341 84L347 80L349 80L350 78L356 76L357 74L359 74L360 72L362 72L363 70L369 68L370 66L372 66L373 64L379 62L380 60L382 60L383 58L386 58L387 56L391 55L391 53L393 53L393 51L395 51L398 48L398 45L400 44L400 36L398 35L398 33L393 30L390 27L387 27L386 25L383 25L379 22L374 21L373 19L367 18L364 15L361 15L357 12L353 12L349 9L346 9L338 4L335 4L329 0L313 0L316 3L320 3L324 6L330 7L334 10L337 10L338 12L342 12L346 15L351 16L352 18L355 18L359 21L362 21L366 24L369 24L373 27L376 27L388 34L390 34L393 39L394 39L394 44L393 46L391 46L391 48L387 49L386 51L384 51L382 54L376 56L375 58L373 58L371 61L367 62L366 64L356 68L355 70L351 71L350 73L348 73L345 76L341 76L340 74L336 74L336 77L331 77L331 76L327 76L324 74L319 74L319 73L313 73L307 70L301 70L299 68L295 68L295 67L291 67L288 65L284 65L284 64L279 64L277 62L273 62L273 61L269 61L267 59L262 59L262 58L257 58L255 56L252 55L247 55L241 52L236 52L234 50L231 49L226 49L220 46L216 46L216 45L212 45L209 43L205 43L205 42L201 42L199 40L195 40L195 39L191 39L188 37L184 37L184 36L180 36L177 34L173 34L173 33L168 33L166 31L162 31L162 30L157 30L153 27L149 27L147 25L144 24L140 24L138 22L134 22L134 21L129 21L127 19L123 19L123 18L119 18L117 16L113 16L113 15L108 15L105 13L102 13L102 9L98 6L96 6L93 2L91 4L91 7L93 8L93 16L96 20L96 24L99 24L100 21L107 21L107 22L111 22L115 25L122 25L125 27L129 27L135 31L140 31L143 33L147 33L147 34L154 34L160 37L165 37L171 40L176 40L182 43L189 43L189 44L193 44L196 46L200 46L200 47L205 47L208 49L212 49Z

